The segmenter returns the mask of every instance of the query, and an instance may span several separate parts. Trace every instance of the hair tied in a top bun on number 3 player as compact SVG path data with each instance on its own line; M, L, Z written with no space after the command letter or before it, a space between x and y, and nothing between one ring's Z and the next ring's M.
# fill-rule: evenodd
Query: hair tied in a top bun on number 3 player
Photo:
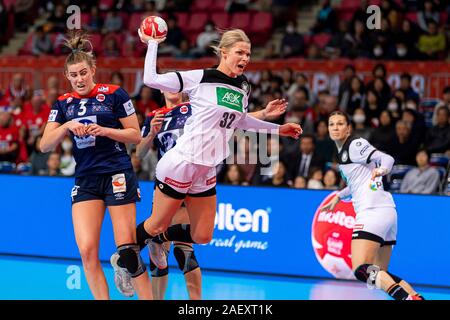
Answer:
M67 71L69 65L84 61L91 68L95 66L95 58L92 53L93 46L91 41L89 41L89 35L85 31L74 30L69 32L64 45L72 51L64 63L64 72Z

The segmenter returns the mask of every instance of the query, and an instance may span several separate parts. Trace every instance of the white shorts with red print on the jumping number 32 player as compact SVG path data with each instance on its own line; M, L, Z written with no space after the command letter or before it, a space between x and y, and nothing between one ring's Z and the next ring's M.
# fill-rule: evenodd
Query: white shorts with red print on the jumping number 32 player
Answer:
M171 149L156 165L156 186L175 199L212 196L216 194L216 168L188 162Z

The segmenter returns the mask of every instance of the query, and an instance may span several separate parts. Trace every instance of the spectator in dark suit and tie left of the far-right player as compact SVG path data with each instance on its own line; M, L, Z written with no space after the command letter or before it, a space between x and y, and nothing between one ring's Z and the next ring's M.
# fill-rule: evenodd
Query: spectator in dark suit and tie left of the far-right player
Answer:
M291 161L288 165L289 180L295 177L309 177L314 167L323 168L325 161L316 152L316 142L313 135L305 134L300 138L300 152L287 155Z

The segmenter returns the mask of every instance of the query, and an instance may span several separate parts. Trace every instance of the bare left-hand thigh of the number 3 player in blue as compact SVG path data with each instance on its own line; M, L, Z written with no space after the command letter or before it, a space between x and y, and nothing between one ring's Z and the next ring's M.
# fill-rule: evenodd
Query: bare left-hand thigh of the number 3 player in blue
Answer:
M105 204L103 200L89 200L72 205L75 240L80 252L98 248Z

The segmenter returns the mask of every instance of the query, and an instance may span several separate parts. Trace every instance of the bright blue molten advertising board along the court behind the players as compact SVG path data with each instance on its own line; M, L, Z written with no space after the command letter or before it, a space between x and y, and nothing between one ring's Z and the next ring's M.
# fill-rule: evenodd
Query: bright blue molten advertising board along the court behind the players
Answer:
M0 253L79 259L70 207L72 178L0 175ZM141 182L137 221L150 214L153 185ZM218 186L213 241L197 246L203 268L328 277L316 259L311 226L329 191ZM398 245L391 269L414 284L450 286L450 198L394 195ZM100 258L114 252L105 217ZM143 254L148 262L147 254ZM171 255L171 266L176 262ZM295 281L295 280L293 280Z

